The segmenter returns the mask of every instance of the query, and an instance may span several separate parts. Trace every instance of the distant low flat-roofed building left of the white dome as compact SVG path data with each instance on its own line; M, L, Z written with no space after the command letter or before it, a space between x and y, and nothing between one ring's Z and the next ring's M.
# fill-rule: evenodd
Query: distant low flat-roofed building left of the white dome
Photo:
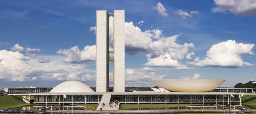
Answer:
M52 87L4 87L6 92L50 92Z

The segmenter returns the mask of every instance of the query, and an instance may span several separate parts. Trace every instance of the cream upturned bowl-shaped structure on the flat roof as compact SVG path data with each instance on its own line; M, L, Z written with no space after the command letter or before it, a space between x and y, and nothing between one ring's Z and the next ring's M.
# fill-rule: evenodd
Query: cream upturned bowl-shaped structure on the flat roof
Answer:
M226 80L163 79L154 81L162 88L172 92L208 92L216 89Z

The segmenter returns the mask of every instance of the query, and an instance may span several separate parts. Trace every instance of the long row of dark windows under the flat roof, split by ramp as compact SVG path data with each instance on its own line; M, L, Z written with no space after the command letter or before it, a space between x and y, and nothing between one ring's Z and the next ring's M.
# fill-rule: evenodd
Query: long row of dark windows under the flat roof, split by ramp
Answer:
M99 102L102 95L35 95L35 102ZM112 95L111 101L120 102L238 102L239 95Z

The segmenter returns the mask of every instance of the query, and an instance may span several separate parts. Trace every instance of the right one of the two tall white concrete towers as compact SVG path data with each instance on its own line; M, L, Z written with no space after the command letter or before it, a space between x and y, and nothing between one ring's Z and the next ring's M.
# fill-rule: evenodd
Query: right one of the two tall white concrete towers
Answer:
M125 91L125 11L114 11L114 92Z

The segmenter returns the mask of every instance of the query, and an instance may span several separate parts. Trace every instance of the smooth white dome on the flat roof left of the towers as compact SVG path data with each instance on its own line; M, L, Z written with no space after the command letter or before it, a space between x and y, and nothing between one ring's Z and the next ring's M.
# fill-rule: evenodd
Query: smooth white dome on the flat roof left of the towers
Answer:
M94 92L94 90L82 82L66 81L54 87L50 92Z

